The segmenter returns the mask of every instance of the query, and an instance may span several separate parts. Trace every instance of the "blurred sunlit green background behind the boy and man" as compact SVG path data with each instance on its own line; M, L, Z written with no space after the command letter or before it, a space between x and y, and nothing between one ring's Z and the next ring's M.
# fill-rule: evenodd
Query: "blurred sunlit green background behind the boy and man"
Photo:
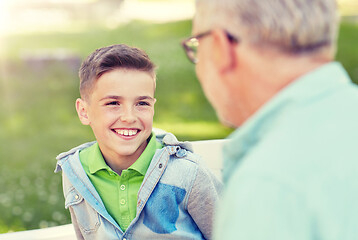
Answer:
M158 2L147 0L126 6L122 6L126 1L111 0L24 2L12 6L19 19L12 19L13 27L2 26L7 32L0 42L0 233L70 222L61 176L53 170L58 153L94 139L90 129L80 124L74 102L79 97L80 62L96 48L116 43L136 46L158 65L155 127L181 140L224 138L232 132L218 122L180 46L191 34L190 20L132 20L126 11L136 6L137 14L148 12L150 6L158 11L152 15L168 14L155 6ZM141 2L146 7L133 5ZM163 6L164 1L159 2ZM179 12L178 1L166 2L172 3L175 14ZM183 11L192 11L187 8L192 0L181 4L185 4ZM26 15L29 9L38 12ZM46 22L51 9L62 22ZM42 16L38 22L33 19L36 15ZM342 21L336 57L355 83L357 22L354 14Z

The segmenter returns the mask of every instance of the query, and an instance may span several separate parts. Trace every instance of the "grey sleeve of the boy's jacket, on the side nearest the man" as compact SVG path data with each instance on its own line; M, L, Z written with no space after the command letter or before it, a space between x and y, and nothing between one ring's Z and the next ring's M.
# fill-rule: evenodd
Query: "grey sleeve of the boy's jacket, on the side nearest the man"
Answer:
M188 199L188 212L206 239L212 239L214 210L222 183L208 169L199 165Z

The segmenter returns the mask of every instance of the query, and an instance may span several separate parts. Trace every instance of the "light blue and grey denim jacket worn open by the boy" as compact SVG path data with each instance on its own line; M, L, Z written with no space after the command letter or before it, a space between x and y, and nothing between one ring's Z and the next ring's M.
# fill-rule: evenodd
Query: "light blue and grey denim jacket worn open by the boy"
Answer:
M200 164L188 142L157 135L157 150L138 192L137 215L123 232L107 212L87 177L79 151L60 154L55 172L63 171L65 207L78 239L210 239L213 209L221 183ZM203 204L205 202L205 204Z

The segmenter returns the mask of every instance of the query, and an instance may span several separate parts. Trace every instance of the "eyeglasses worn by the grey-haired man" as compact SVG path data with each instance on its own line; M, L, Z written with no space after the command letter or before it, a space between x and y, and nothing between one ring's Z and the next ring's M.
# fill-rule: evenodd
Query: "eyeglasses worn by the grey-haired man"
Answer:
M230 42L239 42L239 39L234 37L233 35L231 35L228 32L225 32L227 38L229 39ZM199 39L202 37L205 37L207 35L211 34L211 30L204 32L204 33L200 33L198 35L192 36L188 39L185 39L184 41L181 42L186 56L189 58L189 60L194 63L197 64L198 63L198 56L197 56L197 52L198 52L198 47L199 47Z

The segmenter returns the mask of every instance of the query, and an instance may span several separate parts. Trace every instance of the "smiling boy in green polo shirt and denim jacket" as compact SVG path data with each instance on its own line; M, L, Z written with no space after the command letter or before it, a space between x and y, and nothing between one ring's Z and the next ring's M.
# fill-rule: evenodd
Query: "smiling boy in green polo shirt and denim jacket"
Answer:
M221 183L189 143L155 136L155 66L140 49L97 49L79 71L80 121L96 142L60 154L78 239L210 239Z

